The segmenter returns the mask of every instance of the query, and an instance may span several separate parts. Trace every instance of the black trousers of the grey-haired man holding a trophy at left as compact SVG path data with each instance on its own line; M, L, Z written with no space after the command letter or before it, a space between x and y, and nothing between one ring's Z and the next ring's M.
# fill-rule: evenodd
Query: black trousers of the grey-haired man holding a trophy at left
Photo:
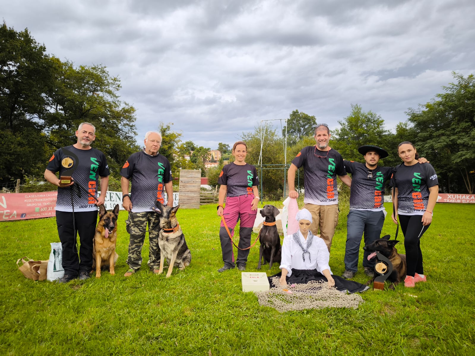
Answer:
M63 268L65 274L77 276L80 271L92 269L92 248L97 225L97 210L75 212L76 229L79 234L79 257L74 234L73 213L56 211L56 225L63 247Z

